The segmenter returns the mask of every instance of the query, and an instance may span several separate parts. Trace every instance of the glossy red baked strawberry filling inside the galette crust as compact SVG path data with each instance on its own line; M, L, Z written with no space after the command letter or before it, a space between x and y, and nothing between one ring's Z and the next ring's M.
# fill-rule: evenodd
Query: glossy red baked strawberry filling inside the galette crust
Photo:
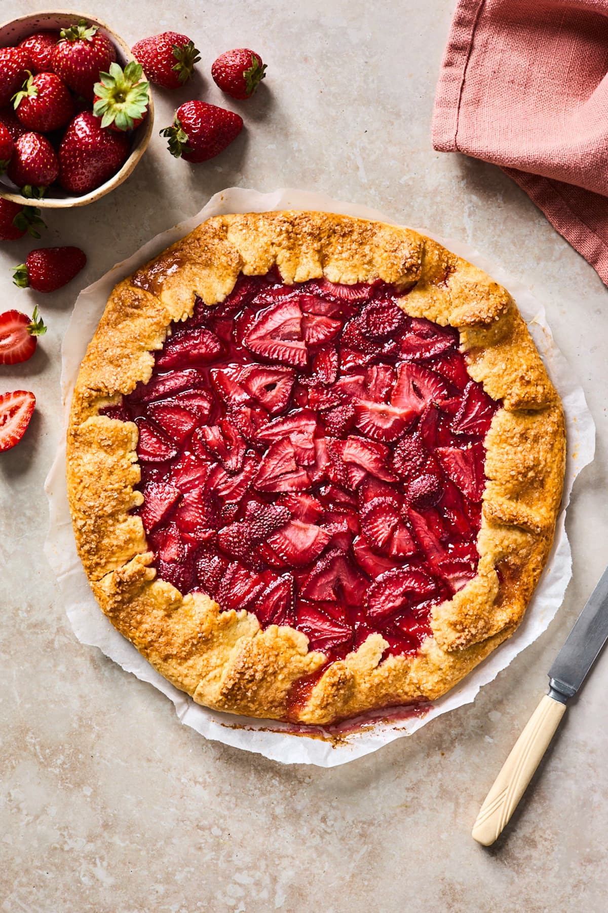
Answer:
M382 283L241 276L172 326L149 383L103 414L139 427L158 576L291 625L332 661L372 632L413 654L476 575L483 440L498 403L458 332Z

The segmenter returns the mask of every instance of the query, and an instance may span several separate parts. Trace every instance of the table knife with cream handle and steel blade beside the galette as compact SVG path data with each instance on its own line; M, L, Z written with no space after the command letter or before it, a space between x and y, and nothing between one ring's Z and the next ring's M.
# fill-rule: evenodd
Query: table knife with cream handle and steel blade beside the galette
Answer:
M608 640L608 568L574 623L565 644L549 670L549 691L528 720L520 738L479 810L473 827L473 838L489 846L509 822L517 803L566 709L566 702L582 686Z

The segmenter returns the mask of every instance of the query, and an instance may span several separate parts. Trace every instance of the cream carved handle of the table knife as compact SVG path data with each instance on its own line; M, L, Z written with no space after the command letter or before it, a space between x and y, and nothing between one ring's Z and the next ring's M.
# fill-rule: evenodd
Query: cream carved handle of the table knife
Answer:
M565 704L546 694L532 713L479 810L473 827L473 837L479 844L493 844L505 828L549 748L565 709Z

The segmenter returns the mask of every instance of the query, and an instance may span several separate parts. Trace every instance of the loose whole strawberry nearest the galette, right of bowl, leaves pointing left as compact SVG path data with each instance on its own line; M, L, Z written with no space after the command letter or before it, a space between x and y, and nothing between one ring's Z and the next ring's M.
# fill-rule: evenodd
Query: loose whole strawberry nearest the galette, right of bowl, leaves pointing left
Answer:
M160 135L169 137L171 155L194 163L219 155L241 131L242 117L233 111L206 101L186 101Z

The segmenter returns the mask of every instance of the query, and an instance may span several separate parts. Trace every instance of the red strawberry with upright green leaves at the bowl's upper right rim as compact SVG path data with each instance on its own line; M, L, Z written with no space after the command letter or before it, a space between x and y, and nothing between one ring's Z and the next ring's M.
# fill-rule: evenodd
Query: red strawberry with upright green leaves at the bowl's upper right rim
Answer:
M61 29L52 65L70 89L90 99L99 73L107 71L115 60L116 50L108 36L81 19L77 26Z

